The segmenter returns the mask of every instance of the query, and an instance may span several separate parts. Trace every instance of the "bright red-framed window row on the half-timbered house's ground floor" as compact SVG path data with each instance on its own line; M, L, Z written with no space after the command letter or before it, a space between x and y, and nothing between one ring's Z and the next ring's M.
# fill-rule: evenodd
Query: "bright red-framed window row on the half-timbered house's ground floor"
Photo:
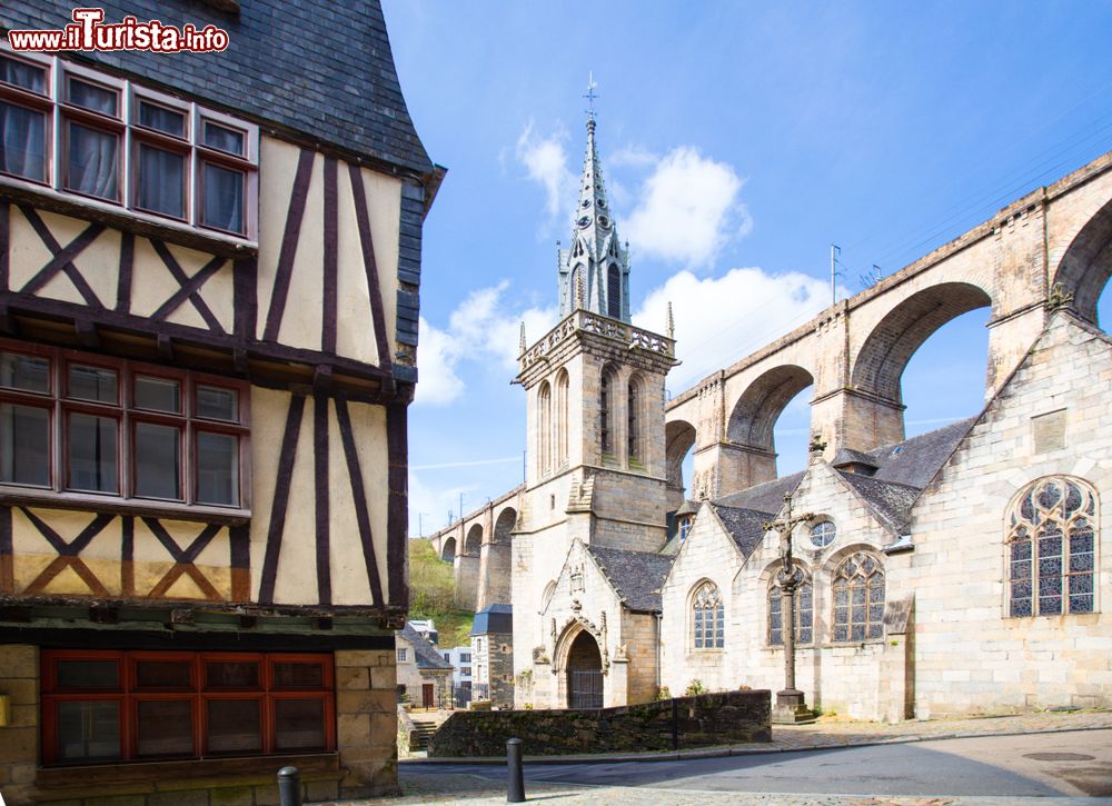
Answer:
M335 749L330 655L42 651L46 764Z

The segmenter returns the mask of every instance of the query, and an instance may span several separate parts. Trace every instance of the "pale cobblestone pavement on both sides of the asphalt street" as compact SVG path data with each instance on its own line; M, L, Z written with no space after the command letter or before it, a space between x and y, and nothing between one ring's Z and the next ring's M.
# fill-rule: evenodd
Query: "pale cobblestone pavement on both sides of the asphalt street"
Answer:
M1060 730L1094 730L1112 728L1112 712L1042 713L1016 716L979 717L972 719L913 720L896 725L823 718L811 725L774 726L771 744L736 745L707 748L698 753L725 755L743 753L782 753L792 750L851 747L900 742L922 742L973 736L1004 736L1051 733ZM659 754L656 754L659 755ZM686 754L681 754L686 755ZM610 759L636 758L636 755L606 756ZM644 758L644 756L641 756ZM597 757L577 757L578 763ZM467 764L469 759L453 759ZM549 762L552 759L548 759ZM570 760L570 759L569 759ZM450 804L492 805L506 803L504 782L480 775L435 773L428 762L400 765L400 798L348 800L344 806L373 804ZM1110 798L1072 797L915 797L856 795L814 795L784 793L715 793L684 792L654 787L652 789L617 786L582 786L545 784L527 780L528 800L552 803L553 806L626 806L654 804L686 806L688 804L737 804L737 806L1064 806L1066 804L1112 803Z

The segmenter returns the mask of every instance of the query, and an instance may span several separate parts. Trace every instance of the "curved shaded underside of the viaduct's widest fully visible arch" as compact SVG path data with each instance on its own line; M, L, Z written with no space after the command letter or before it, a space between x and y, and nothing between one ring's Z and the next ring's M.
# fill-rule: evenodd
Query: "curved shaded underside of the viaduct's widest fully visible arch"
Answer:
M942 282L907 297L877 322L857 351L853 388L901 404L900 380L915 350L951 319L991 305L992 297L970 282Z

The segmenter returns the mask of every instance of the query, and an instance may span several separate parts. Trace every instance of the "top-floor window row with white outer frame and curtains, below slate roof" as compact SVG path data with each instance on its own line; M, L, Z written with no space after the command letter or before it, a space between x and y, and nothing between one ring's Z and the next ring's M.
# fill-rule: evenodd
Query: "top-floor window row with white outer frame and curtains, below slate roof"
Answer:
M0 48L0 175L254 239L258 128L41 53Z

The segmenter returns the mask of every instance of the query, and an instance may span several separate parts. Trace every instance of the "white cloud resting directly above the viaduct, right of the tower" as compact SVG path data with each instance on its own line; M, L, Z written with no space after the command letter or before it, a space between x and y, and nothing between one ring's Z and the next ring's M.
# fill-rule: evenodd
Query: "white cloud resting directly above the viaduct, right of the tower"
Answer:
M845 289L840 296L847 296ZM664 332L667 304L676 326L676 357L668 374L678 395L714 370L727 367L803 325L830 305L830 286L796 271L770 275L763 269L732 269L722 277L673 275L649 292L634 324Z

